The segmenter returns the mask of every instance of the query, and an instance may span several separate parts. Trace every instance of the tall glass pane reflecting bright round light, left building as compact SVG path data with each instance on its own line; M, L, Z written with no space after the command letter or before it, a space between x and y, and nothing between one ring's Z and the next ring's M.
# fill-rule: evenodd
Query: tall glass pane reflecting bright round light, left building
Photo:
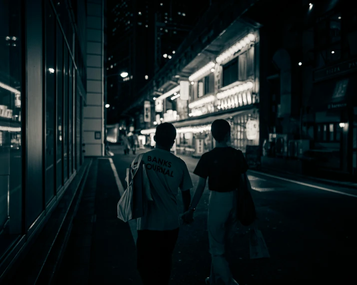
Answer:
M45 202L48 203L55 194L54 186L54 122L55 122L55 30L56 18L49 1L45 1L45 108L46 108L46 188Z

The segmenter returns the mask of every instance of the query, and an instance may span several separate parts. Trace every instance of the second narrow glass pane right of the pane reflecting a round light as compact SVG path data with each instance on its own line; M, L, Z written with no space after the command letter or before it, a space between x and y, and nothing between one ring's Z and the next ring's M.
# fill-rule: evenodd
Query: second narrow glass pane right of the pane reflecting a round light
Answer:
M64 45L63 58L63 182L68 179L68 48Z

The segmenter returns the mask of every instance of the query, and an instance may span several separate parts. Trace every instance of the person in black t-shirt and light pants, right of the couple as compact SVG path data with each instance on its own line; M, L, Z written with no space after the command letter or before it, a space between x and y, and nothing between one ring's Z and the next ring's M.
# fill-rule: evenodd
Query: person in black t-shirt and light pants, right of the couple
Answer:
M237 185L240 173L246 173L248 164L241 150L228 146L231 140L231 126L225 120L216 120L211 127L216 147L204 153L194 174L200 176L189 210L183 215L192 221L208 177L210 190L208 207L208 238L212 258L211 275L206 279L210 285L237 285L225 258L226 246L237 228Z

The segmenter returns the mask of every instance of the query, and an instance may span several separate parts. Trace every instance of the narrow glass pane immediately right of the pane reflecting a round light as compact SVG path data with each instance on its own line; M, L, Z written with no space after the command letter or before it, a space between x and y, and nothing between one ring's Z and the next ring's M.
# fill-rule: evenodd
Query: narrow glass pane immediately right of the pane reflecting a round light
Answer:
M57 189L63 185L63 35L57 23Z

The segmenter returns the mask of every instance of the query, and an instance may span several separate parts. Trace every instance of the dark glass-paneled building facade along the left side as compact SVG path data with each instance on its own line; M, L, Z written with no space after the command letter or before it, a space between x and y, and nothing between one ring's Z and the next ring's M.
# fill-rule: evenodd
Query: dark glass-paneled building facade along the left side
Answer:
M90 2L0 1L0 280L83 167Z

